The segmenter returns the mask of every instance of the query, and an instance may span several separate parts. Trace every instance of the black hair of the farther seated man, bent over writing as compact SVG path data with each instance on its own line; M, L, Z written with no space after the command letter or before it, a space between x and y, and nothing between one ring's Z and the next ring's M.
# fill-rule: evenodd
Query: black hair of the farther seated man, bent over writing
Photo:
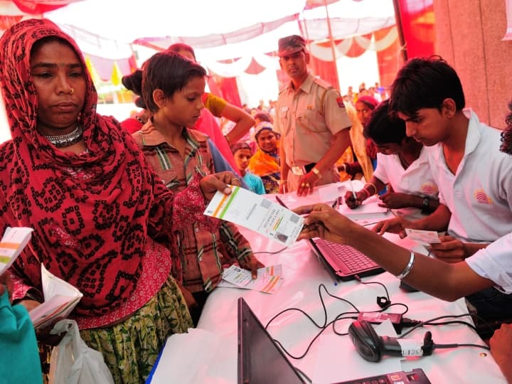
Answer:
M375 107L363 129L364 137L372 139L377 145L402 144L407 137L405 121L389 114L389 104L389 100L385 100Z

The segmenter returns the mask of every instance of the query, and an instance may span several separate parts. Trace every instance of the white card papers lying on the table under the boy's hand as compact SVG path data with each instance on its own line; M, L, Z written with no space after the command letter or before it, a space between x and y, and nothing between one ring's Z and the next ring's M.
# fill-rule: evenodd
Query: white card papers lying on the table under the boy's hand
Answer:
M223 272L223 282L228 282L238 288L274 293L282 285L282 265L259 268L256 279L252 279L250 271L237 265L231 265ZM218 287L230 287L230 285L219 283Z

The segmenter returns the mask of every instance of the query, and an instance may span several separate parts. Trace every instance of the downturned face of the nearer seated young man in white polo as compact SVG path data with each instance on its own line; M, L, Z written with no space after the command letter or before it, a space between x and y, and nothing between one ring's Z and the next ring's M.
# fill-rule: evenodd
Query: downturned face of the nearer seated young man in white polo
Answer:
M422 108L414 116L398 112L398 117L405 121L407 136L425 146L442 142L448 136L450 121L444 116L444 112L439 112L436 108Z

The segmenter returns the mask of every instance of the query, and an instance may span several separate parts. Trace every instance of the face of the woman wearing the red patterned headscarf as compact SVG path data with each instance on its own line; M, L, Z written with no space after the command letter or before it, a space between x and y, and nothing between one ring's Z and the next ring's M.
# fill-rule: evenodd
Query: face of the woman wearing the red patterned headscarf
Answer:
M75 127L85 101L85 69L75 50L48 41L31 53L31 75L38 95L38 129L43 134Z

